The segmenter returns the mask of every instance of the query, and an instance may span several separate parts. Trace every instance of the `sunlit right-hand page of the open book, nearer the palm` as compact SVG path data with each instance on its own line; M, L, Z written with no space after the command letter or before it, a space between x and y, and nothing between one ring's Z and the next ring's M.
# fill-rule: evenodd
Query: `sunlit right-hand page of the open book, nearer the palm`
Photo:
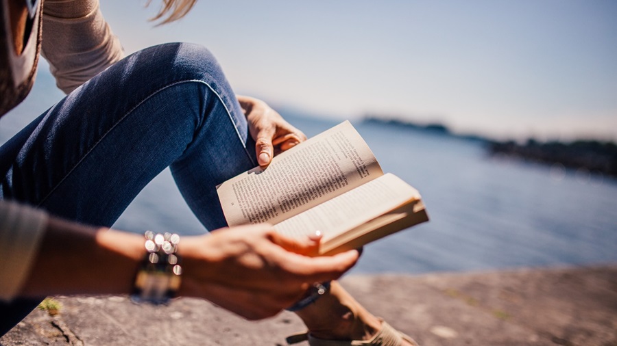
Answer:
M322 244L326 244L348 230L414 201L420 201L416 189L394 174L385 174L280 222L274 228L283 235L299 239L319 230L323 234Z

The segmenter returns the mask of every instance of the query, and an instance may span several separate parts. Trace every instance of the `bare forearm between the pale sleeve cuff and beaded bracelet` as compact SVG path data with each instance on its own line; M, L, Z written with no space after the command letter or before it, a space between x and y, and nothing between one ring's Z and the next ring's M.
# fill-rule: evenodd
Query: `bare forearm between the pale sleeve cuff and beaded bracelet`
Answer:
M141 235L50 218L21 295L130 293Z

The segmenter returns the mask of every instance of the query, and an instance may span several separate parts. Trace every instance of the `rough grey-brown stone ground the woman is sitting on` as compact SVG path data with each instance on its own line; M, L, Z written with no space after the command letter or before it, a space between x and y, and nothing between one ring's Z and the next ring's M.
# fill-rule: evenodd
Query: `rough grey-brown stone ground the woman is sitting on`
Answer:
M341 282L423 346L617 346L617 265ZM285 345L304 330L290 312L250 322L188 298L164 307L115 296L57 299L60 314L33 311L0 345Z

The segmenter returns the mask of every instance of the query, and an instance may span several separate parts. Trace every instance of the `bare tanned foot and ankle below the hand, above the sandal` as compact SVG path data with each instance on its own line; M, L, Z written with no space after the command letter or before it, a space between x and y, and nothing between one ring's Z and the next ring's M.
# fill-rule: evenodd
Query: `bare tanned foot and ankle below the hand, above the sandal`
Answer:
M382 321L372 315L337 281L332 281L330 291L296 314L304 321L315 338L326 340L370 340L379 330ZM402 346L413 346L403 341Z

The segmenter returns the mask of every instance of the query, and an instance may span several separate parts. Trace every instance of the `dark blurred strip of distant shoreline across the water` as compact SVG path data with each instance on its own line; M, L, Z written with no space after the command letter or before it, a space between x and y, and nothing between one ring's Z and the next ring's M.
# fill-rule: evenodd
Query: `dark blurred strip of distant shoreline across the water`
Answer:
M377 116L365 116L363 122L468 139L484 144L489 155L507 155L524 161L561 165L563 168L586 170L591 174L600 173L617 177L617 144L614 142L601 142L593 139L573 142L537 142L530 138L524 144L520 144L513 140L497 141L481 135L453 133L446 125L438 122L420 124L409 120Z

